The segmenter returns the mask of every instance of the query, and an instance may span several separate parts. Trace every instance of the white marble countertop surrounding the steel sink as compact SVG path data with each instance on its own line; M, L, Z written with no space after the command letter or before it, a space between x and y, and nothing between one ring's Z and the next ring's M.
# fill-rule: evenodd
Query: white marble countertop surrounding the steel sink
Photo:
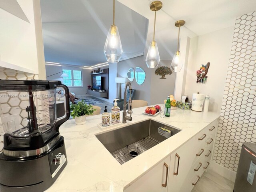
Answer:
M121 165L95 136L108 131L102 131L97 126L101 123L101 115L86 117L86 124L80 126L74 120L68 120L60 127L68 164L46 192L123 192L219 117L214 112L194 112L177 108L171 111L170 117L161 118L160 115L145 115L144 110L145 107L133 109L131 122L120 123L114 128L110 125L108 130L151 118L182 131Z

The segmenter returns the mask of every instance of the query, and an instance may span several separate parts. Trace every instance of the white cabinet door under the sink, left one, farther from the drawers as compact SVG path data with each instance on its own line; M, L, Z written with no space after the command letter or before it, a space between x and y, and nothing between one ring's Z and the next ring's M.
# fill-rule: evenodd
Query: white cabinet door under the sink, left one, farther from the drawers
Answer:
M158 163L124 192L167 192L170 156Z

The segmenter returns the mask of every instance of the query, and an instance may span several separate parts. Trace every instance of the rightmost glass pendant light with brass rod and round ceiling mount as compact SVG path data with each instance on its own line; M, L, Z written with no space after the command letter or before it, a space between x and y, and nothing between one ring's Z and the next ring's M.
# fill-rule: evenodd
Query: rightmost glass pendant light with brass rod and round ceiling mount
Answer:
M184 24L185 24L184 20L179 20L175 23L175 26L179 28L179 32L178 32L178 50L176 51L171 64L171 69L173 72L180 72L180 70L183 67L179 46L180 46L180 27L183 26Z

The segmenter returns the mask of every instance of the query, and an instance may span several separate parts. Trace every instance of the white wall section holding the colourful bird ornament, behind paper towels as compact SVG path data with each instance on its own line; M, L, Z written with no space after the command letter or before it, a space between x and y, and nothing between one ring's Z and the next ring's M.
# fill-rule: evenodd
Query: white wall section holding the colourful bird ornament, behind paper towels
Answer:
M192 100L192 94L210 95L209 111L220 112L224 94L228 61L234 27L228 27L190 40L186 86L184 94ZM206 84L196 83L196 71L201 64L210 62Z

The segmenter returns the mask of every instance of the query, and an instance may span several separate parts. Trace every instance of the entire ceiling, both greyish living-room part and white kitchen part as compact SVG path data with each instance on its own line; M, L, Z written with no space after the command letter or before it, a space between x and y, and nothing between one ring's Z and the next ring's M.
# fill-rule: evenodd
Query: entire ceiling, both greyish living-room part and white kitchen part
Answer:
M153 36L152 0L118 1L135 11L116 2L122 57L146 53ZM256 10L256 0L162 2L163 8L156 14L155 37L162 60L172 59L177 49L177 20L186 21L180 36L192 38L234 26L237 16ZM106 62L102 50L112 24L112 0L41 0L41 9L46 61L82 66Z

